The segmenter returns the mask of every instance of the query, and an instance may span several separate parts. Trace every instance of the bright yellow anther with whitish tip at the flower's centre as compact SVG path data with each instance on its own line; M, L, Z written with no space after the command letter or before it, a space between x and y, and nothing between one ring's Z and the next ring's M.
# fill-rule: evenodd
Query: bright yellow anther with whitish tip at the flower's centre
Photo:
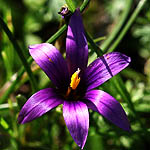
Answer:
M72 75L71 77L71 83L70 83L70 87L75 90L77 88L77 86L80 83L80 78L79 78L79 73L80 73L80 69L78 68L78 70Z

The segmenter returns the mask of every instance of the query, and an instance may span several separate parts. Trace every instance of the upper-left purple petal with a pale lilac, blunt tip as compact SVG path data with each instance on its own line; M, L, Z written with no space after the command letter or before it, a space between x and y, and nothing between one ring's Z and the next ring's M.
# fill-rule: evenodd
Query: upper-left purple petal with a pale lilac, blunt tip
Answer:
M36 63L58 88L68 86L67 64L61 53L51 44L42 43L29 46L29 51Z

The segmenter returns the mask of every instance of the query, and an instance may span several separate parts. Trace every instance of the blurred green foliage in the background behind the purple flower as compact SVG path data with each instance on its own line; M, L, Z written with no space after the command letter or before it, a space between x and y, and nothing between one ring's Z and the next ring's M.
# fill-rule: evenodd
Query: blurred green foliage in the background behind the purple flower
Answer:
M74 1L80 6L83 1ZM134 12L139 0L133 1L130 14ZM13 33L26 59L29 57L28 45L45 42L63 24L58 11L65 0L0 0L0 16ZM124 10L126 0L95 0L83 13L86 31L93 38L111 34L118 17ZM90 129L85 145L87 150L147 150L150 147L150 3L136 18L116 51L132 58L131 65L121 72L123 84L135 108L135 114L123 95L118 93L112 79L100 89L114 96L125 109L131 123L130 133L122 131L102 116L90 110ZM129 17L128 17L129 19ZM127 19L127 21L128 21ZM127 23L126 21L126 23ZM63 53L64 33L55 43ZM103 41L98 44L102 45ZM89 49L89 60L95 58ZM22 63L0 28L0 97L11 86ZM31 65L38 81L38 88L53 86L47 76L35 64ZM17 123L21 106L31 96L29 77L23 74L9 98L0 104L0 149L1 150L70 150L78 149L70 136L62 116L62 106L25 125ZM129 98L129 97L128 97Z

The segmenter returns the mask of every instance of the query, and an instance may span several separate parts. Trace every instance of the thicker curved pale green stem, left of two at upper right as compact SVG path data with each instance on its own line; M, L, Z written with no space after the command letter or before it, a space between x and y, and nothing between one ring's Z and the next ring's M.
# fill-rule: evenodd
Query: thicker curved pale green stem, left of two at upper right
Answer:
M107 51L107 49L109 48L111 43L114 41L114 39L118 35L120 29L122 28L123 24L125 23L128 15L129 15L133 0L126 0L126 1L127 1L126 2L126 7L125 7L125 9L124 9L124 11L123 11L123 13L120 17L119 23L117 23L115 25L114 30L110 33L107 40L105 40L104 43L101 45L101 49L104 51L104 53Z

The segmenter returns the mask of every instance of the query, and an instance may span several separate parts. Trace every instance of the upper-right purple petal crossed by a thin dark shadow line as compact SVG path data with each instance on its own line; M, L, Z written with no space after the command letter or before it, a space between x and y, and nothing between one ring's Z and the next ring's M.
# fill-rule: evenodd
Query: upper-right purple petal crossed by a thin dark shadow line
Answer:
M112 52L97 58L85 70L84 78L87 91L98 87L121 70L126 68L131 59L119 52Z

